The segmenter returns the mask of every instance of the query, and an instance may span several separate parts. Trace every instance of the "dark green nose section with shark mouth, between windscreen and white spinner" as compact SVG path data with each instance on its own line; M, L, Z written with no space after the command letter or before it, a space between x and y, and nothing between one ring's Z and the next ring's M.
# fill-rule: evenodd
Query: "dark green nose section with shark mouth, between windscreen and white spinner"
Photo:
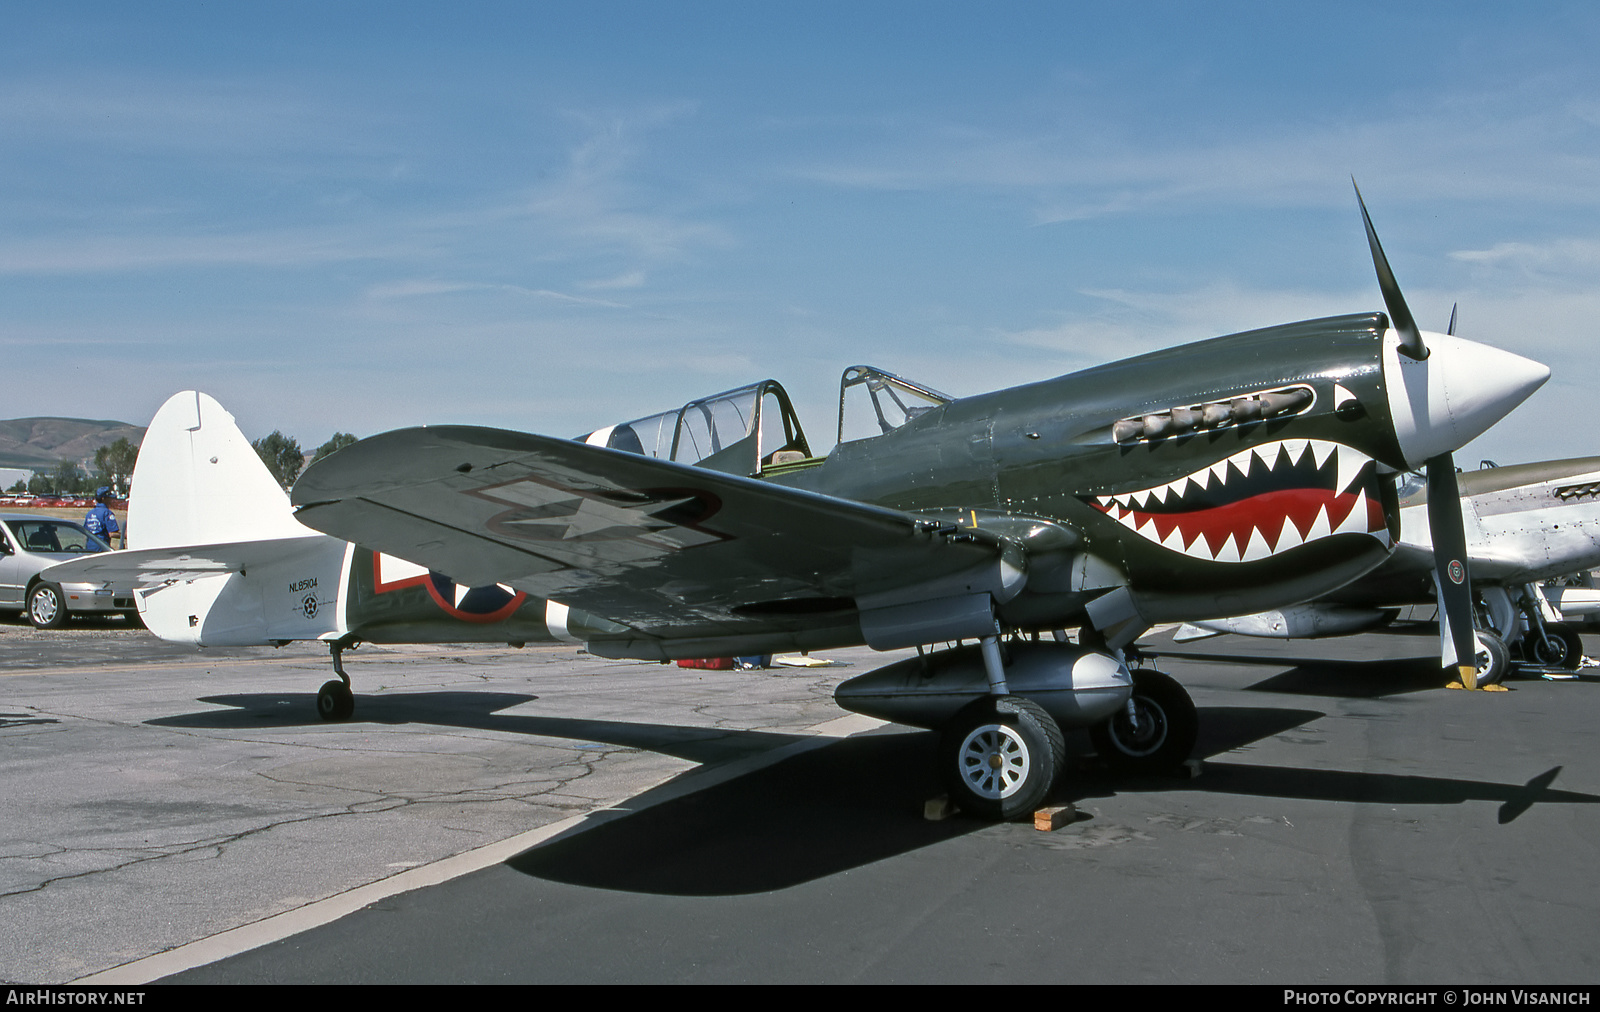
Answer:
M1397 533L1384 330L1381 314L1291 323L966 397L773 480L1018 538L1027 584L1002 616L1019 628L1077 624L1122 580L1152 623L1302 600ZM1160 432L1174 410L1285 389L1310 396ZM1141 418L1154 437L1130 437Z

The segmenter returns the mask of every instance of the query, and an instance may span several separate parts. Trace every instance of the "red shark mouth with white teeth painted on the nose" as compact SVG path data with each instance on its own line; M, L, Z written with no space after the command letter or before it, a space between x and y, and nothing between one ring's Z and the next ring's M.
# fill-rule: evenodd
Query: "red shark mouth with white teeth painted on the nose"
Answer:
M1163 485L1082 498L1206 562L1254 562L1344 533L1389 544L1376 461L1325 439L1267 442Z

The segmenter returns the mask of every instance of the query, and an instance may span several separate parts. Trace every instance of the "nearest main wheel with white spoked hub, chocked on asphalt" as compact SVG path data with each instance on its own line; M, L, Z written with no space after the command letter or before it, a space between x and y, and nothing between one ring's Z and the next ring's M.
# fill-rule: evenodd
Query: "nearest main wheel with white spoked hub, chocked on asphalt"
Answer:
M979 818L1005 821L1038 809L1066 754L1054 717L1024 697L968 703L939 735L939 769L950 799Z

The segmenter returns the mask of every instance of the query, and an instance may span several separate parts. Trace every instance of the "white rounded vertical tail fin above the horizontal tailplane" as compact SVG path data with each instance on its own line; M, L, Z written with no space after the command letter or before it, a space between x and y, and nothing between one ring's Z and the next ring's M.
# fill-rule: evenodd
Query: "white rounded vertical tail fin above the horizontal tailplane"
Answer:
M214 399L173 394L150 420L128 492L128 548L304 538L290 496Z

